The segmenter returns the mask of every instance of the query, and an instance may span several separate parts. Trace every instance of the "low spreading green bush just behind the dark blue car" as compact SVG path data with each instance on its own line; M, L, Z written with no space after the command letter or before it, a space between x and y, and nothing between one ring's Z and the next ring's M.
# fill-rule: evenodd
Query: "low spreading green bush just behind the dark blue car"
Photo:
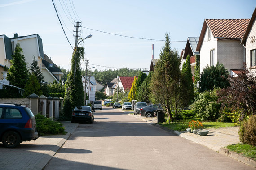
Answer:
M65 135L67 133L65 132L65 128L62 126L62 123L58 121L53 121L40 114L35 115L35 119L37 131L41 136L57 134Z

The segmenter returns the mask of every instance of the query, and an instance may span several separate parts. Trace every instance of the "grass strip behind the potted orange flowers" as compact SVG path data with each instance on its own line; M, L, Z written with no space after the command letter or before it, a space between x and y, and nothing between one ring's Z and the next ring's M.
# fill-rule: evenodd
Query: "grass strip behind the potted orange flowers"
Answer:
M168 124L166 122L161 123L162 126L167 127L168 129L172 129L172 130L176 130L176 131L181 131L181 130L185 130L186 128L189 127L189 122L192 119L188 119L188 120L180 120L178 122L174 122L171 124ZM201 121L200 118L194 118L193 120L199 120ZM207 129L207 128L220 128L220 127L233 127L234 123L230 123L230 122L210 122L210 121L205 121L202 122L203 123L203 128Z

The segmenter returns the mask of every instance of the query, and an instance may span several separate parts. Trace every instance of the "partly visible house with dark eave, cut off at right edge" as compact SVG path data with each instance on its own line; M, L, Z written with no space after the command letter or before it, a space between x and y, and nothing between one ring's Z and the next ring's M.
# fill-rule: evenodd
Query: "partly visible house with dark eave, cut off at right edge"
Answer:
M245 62L247 67L256 71L256 8L241 43L246 47Z

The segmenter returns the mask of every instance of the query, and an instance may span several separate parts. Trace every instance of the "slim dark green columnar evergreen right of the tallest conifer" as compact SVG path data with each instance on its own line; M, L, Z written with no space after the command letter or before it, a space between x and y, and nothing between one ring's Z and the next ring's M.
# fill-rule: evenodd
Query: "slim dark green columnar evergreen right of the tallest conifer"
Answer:
M190 56L187 56L181 71L180 101L183 107L189 106L194 98L194 84L192 79Z

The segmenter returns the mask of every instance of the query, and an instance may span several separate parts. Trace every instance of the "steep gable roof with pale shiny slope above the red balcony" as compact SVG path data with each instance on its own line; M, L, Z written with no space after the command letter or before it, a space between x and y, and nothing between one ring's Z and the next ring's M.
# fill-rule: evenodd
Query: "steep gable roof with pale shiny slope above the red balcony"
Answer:
M193 56L199 54L199 52L195 51L198 44L199 37L188 37L186 48L183 53L182 59L186 59L188 55Z

